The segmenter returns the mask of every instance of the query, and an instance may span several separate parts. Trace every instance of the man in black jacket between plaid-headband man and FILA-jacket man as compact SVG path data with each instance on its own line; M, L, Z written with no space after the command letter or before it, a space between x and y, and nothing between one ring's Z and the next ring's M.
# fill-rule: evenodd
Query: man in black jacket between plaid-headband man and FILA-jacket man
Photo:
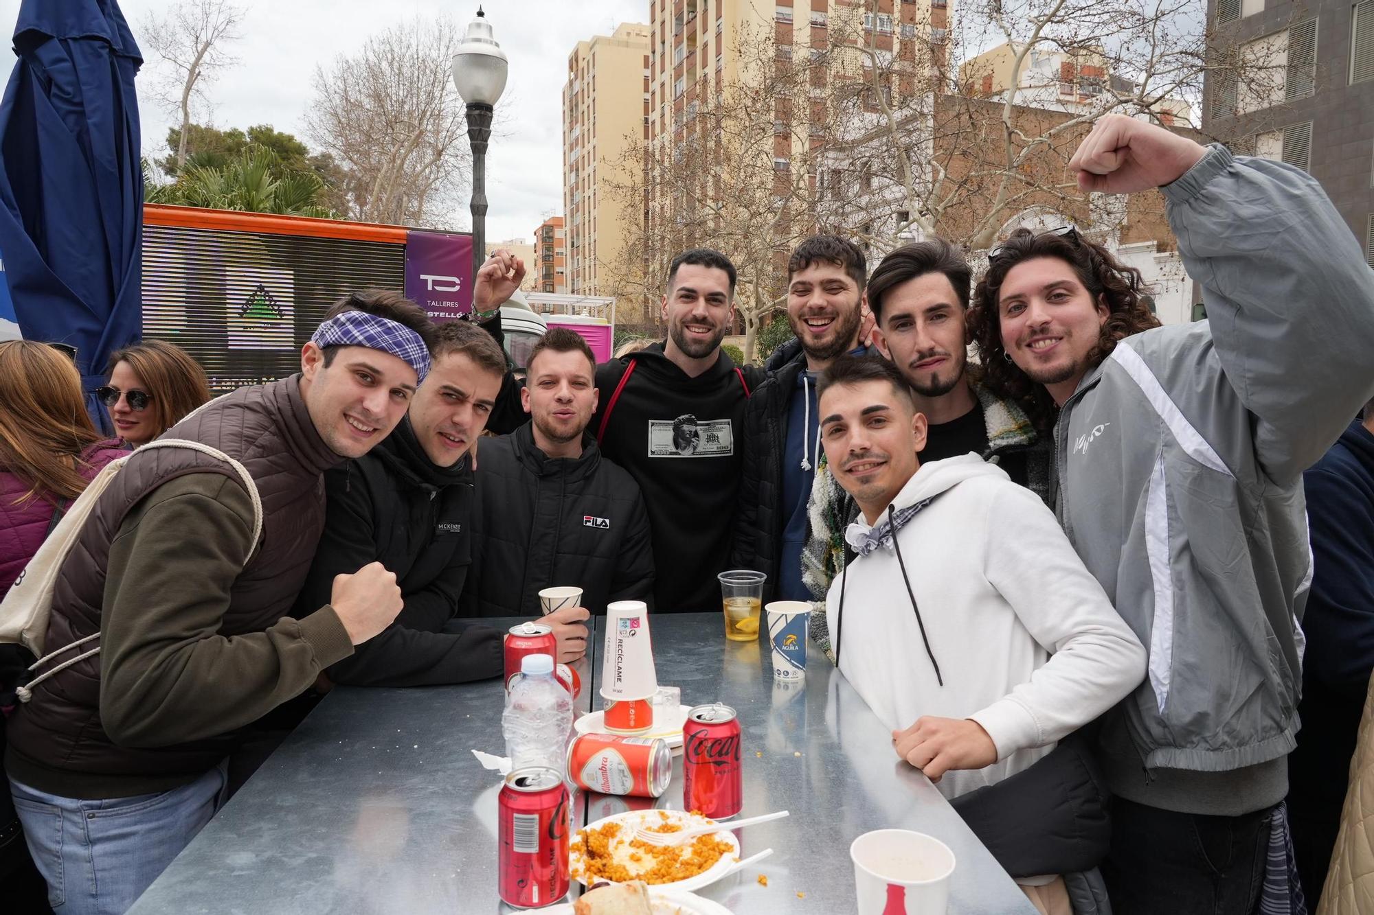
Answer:
M394 572L404 602L379 636L328 668L330 681L429 686L502 672L500 629L449 624L471 563L467 452L486 426L504 372L506 359L486 331L442 324L426 383L396 430L364 458L326 471L324 533L302 606L320 595L327 600L334 577L359 556ZM585 639L585 628L576 628Z

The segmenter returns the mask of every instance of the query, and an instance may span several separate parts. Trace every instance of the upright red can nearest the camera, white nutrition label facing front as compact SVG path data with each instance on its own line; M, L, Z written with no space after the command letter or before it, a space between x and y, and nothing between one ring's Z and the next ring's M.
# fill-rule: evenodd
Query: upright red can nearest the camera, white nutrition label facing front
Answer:
M567 894L567 816L562 772L536 765L506 776L496 826L502 901L536 908Z

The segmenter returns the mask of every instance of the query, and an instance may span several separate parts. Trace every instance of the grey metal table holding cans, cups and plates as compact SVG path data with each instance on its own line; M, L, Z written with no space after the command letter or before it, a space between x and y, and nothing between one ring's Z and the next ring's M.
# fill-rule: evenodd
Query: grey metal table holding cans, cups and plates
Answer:
M511 625L514 620L488 620ZM598 620L600 622L600 620ZM954 849L951 915L1035 910L890 734L813 653L801 684L774 684L767 644L725 642L719 614L651 617L660 683L687 705L720 701L743 731L741 830L757 867L701 890L739 915L851 912L849 842L872 828L929 833ZM598 631L589 654L600 647ZM588 710L599 662L578 665ZM496 899L499 680L412 690L338 687L131 910L154 912L510 912ZM600 706L600 701L596 701ZM577 824L647 800L574 795ZM682 808L682 757L653 804ZM768 885L758 882L763 874ZM574 894L577 883L573 883Z

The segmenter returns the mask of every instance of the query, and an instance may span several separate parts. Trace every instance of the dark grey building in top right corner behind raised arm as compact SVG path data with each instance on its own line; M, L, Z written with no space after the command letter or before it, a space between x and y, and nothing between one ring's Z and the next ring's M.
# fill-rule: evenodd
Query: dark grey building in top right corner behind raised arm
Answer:
M1204 133L1320 181L1374 267L1374 0L1208 0Z

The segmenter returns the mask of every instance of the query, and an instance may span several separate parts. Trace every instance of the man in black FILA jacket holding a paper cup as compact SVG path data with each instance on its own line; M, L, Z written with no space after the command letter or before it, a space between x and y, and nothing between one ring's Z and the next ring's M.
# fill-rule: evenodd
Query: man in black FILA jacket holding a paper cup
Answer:
M595 613L613 600L653 609L644 500L585 434L596 409L596 357L578 334L552 327L528 368L530 422L481 442L464 615L537 615L540 589L559 585L581 588L581 607Z

